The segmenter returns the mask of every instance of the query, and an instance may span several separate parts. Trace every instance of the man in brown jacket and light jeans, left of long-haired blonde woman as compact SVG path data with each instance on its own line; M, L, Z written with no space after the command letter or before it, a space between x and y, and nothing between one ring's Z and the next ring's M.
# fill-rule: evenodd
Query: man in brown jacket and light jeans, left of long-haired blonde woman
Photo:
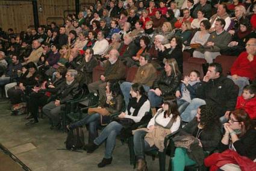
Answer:
M151 63L149 63L150 61L151 57L148 53L143 53L142 55L140 55L140 67L136 72L133 82L123 82L120 85L126 106L130 101L129 99L131 85L133 85L134 83L143 84L145 91L148 92L150 87L153 85L155 78L157 78L157 70Z

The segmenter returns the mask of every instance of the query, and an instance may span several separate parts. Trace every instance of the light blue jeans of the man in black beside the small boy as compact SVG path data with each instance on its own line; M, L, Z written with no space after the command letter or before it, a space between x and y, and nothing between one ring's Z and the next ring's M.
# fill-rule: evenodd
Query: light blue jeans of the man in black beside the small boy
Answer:
M181 114L181 120L183 120L184 122L190 122L196 116L198 107L205 104L206 102L202 99L199 99L199 98L192 99L189 106Z

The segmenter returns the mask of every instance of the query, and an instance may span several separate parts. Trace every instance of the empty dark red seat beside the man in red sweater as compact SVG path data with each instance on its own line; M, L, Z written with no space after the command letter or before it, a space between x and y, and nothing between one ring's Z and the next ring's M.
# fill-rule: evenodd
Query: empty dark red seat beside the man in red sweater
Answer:
M215 59L215 62L222 65L222 74L226 76L230 72L230 69L236 59L236 56L219 55Z

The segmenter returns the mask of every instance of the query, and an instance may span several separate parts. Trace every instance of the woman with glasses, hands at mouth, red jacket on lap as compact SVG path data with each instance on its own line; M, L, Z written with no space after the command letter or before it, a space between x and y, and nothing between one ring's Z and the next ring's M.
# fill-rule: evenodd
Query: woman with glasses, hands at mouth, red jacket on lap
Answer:
M206 158L205 166L211 166L214 170L218 167L221 170L255 170L255 122L244 110L235 110L229 115L228 122L224 123L224 128L225 134L219 145L222 153L215 153Z

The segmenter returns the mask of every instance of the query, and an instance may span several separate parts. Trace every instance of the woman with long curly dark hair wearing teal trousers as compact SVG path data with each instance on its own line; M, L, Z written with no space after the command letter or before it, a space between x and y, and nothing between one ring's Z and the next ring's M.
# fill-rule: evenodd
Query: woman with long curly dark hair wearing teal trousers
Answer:
M186 136L186 138L182 136ZM202 166L205 152L216 149L221 136L219 117L214 114L213 108L209 105L199 107L196 117L173 138L176 149L172 158L172 170L184 170L185 166L194 164ZM189 151L183 145L179 146L181 144L178 143L179 137L181 141L193 140L190 143Z

